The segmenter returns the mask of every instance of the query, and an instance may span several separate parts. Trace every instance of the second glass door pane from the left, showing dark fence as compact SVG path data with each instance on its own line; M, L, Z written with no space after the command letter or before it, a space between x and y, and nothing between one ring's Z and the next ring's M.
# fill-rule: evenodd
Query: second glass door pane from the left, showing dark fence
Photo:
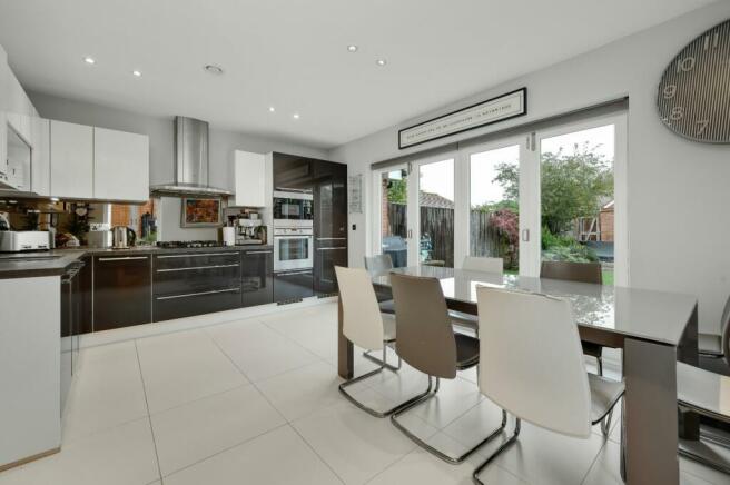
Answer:
M416 164L420 265L454 267L454 159Z

